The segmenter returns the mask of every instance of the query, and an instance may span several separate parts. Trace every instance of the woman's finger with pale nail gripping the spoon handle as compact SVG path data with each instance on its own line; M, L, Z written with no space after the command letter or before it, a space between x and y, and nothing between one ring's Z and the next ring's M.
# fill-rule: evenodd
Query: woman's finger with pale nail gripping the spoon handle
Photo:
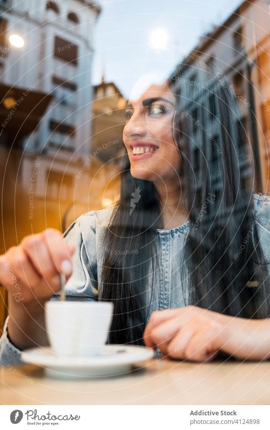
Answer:
M68 246L60 231L54 228L48 228L42 233L42 236L56 270L70 275L72 272L71 255L74 252L74 247L72 245L71 247ZM71 248L73 249L72 251Z

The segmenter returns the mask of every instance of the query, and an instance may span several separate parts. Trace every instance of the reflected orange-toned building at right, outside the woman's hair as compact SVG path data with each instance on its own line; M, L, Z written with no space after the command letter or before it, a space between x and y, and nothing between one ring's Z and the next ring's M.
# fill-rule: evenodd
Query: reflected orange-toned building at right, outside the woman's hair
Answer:
M270 193L270 15L267 3L266 0L244 1L222 25L202 36L181 63L191 65L183 72L191 82L196 81L192 54L199 55L213 70L217 69L221 82L225 81L224 77L228 81L229 90L238 100L239 120L253 152L256 181L262 184L261 190ZM200 91L196 86L194 91L198 91L199 102ZM210 128L211 124L210 121ZM218 140L218 130L210 132ZM246 175L248 178L248 171Z

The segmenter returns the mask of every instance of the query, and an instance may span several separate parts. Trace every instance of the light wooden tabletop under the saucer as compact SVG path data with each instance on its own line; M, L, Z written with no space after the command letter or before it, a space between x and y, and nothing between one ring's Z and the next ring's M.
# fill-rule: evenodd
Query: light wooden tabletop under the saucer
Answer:
M20 373L19 373L20 372ZM124 376L61 380L0 367L2 405L269 405L270 362L149 360Z

